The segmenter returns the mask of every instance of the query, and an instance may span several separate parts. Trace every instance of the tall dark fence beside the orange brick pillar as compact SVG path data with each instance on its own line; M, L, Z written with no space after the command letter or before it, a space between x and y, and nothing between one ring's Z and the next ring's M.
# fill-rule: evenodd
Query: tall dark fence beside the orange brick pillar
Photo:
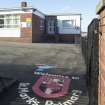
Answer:
M99 20L93 19L88 26L88 35L82 38L82 52L87 66L87 84L89 105L98 104L98 71L99 71Z

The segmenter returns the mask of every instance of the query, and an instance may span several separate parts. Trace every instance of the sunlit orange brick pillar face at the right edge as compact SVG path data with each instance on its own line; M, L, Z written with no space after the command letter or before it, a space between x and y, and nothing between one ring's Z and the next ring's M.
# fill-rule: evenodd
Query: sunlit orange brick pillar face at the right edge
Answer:
M105 105L105 9L100 12L99 105Z

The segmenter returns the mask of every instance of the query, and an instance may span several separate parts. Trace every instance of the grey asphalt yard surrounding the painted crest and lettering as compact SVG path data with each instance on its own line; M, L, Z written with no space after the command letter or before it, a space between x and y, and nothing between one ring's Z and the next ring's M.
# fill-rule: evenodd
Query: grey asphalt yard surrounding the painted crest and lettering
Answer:
M86 67L79 45L0 42L0 76L17 80L15 84L0 94L1 105L27 105L24 100L20 99L18 87L20 83L31 83L31 85L35 83L37 80L33 70L35 64L56 65L60 68L50 71L51 74L65 75L70 78L78 77L79 80L72 81L70 89L81 90L82 94L73 105L88 105ZM34 97L35 94L31 89L29 90L29 94ZM38 99L40 100L39 97ZM57 102L60 100L65 102L67 99L68 97L65 96L63 99L54 100L54 102L59 105ZM44 101L46 100L41 99L40 101L41 104L35 105L45 105Z

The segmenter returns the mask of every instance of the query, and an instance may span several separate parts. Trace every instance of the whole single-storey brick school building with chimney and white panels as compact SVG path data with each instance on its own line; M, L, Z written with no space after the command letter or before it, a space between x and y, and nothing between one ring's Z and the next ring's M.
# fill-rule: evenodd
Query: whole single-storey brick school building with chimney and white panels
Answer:
M20 8L0 9L0 40L79 43L80 14L45 15L21 3Z

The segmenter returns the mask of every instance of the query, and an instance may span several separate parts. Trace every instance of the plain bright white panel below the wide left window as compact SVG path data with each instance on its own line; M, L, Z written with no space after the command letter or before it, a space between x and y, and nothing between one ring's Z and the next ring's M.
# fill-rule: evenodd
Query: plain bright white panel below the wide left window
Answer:
M20 37L20 29L16 28L0 28L0 37Z

